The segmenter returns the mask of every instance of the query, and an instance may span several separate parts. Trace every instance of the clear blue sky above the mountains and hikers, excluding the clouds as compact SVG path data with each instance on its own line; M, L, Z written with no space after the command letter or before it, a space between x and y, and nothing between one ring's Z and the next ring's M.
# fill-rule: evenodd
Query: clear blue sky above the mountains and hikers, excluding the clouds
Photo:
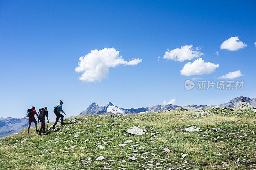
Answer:
M92 102L138 108L172 99L183 106L255 98L255 7L255 1L0 1L0 117L25 117L31 106L52 112L59 100L72 116ZM231 37L246 47L220 49ZM183 62L163 58L167 50L187 45L204 55ZM142 62L110 67L100 82L79 80L79 58L104 48L116 49L124 61ZM219 67L180 75L199 58ZM236 70L243 76L233 80L243 80L243 90L184 88L187 79L218 81Z

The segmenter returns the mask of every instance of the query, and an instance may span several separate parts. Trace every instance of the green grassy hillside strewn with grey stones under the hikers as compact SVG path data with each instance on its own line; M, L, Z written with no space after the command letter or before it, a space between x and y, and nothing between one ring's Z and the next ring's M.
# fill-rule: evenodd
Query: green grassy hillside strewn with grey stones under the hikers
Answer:
M24 129L0 140L0 169L256 169L256 114L207 111L77 116L79 122L43 136ZM145 134L127 133L133 126ZM189 126L201 130L188 132ZM132 143L119 146L126 140Z

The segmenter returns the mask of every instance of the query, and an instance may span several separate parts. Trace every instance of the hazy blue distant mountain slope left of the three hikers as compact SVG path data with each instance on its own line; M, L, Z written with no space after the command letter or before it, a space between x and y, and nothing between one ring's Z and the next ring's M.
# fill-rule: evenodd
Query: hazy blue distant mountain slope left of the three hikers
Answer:
M0 138L19 132L28 127L28 119L26 117L17 119L12 117L0 118Z

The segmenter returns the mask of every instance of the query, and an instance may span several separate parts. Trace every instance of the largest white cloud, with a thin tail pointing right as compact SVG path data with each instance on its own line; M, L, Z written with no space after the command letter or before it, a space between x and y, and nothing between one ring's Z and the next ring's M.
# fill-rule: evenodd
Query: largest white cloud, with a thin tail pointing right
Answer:
M119 56L119 51L116 51L115 48L92 50L89 54L80 57L79 61L75 71L82 72L79 79L87 82L100 82L107 77L110 67L115 67L119 64L136 65L142 62L139 58L132 58L128 62L124 61L122 56Z

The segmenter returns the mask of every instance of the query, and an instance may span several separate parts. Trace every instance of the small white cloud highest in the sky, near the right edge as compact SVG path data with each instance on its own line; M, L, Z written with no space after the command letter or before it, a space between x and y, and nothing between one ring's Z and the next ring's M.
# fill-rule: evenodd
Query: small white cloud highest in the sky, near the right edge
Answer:
M220 49L227 49L229 51L236 51L244 47L247 47L247 44L239 41L238 37L231 37L220 45Z

